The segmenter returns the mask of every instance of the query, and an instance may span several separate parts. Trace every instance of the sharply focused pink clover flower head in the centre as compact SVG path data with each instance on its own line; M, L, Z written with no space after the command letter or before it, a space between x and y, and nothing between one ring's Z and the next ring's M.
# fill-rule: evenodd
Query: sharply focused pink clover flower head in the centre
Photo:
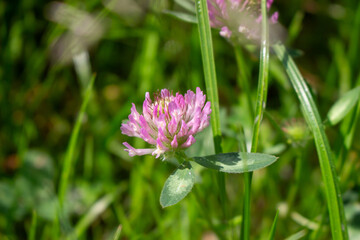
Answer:
M124 142L130 156L152 154L158 158L165 152L178 151L195 143L194 135L209 125L210 102L206 95L196 88L196 93L188 90L175 96L167 89L154 94L145 94L143 112L139 114L132 104L129 121L120 127L122 134L140 137L153 148L135 149Z

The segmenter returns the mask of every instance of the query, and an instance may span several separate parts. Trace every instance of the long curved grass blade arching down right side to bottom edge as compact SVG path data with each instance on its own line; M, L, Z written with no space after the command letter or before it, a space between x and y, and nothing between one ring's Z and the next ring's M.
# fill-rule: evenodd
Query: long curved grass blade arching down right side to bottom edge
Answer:
M287 53L284 45L276 44L273 49L283 63L295 92L303 107L303 113L314 135L316 149L319 155L322 178L325 184L326 200L330 215L330 225L333 239L348 239L347 226L339 189L339 183L332 160L330 145L325 134L319 111L314 103L305 80L301 76L295 62Z

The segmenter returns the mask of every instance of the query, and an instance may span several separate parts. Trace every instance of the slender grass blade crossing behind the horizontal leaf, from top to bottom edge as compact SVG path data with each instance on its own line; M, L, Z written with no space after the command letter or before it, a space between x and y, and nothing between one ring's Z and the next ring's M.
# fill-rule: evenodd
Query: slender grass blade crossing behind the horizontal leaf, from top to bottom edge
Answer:
M268 73L269 73L269 28L266 13L266 0L261 1L261 50L260 50L260 69L259 81L256 97L255 120L253 126L253 135L251 141L251 152L257 151L260 134L260 124L264 115L266 106L266 97L268 89ZM244 193L244 209L242 222L242 239L250 239L250 202L251 202L251 180L252 173L244 174L245 193Z

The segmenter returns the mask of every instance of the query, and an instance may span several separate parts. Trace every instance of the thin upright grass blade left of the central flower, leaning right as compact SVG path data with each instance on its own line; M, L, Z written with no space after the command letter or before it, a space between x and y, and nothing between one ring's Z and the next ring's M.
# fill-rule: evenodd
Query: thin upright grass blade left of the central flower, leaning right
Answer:
M76 146L77 139L79 137L81 124L85 117L86 107L88 105L88 102L89 102L89 99L90 99L90 96L92 93L95 76L96 76L95 74L92 76L89 86L86 89L86 92L84 95L84 100L81 105L80 112L79 112L78 118L76 119L75 126L71 133L70 142L69 142L69 145L66 150L66 155L65 155L64 164L63 164L63 168L62 168L62 172L61 172L61 178L60 178L60 187L59 187L60 208L63 207L66 190L67 190L68 183L69 183L70 174L71 174L72 168L74 167L72 163L73 163L73 156L74 156L74 152L75 152L75 146Z

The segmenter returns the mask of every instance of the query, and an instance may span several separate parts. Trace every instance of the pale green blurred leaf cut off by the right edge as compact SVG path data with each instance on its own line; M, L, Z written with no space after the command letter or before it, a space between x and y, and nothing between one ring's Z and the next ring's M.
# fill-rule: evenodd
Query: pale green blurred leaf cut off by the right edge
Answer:
M345 93L336 103L331 107L327 114L328 121L331 125L340 122L359 101L360 86Z

